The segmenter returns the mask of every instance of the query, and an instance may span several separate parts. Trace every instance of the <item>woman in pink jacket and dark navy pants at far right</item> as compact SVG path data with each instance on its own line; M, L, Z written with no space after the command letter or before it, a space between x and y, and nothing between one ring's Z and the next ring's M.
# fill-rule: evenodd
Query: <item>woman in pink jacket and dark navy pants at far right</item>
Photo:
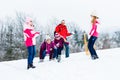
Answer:
M92 17L92 20L91 20L92 29L91 29L91 31L89 33L89 35L91 37L90 37L89 42L88 42L88 49L90 51L91 58L93 60L95 60L95 59L98 59L98 55L97 55L97 53L96 53L96 51L94 49L94 43L98 38L97 24L99 24L99 22L97 21L98 17L96 15L91 15L91 17Z

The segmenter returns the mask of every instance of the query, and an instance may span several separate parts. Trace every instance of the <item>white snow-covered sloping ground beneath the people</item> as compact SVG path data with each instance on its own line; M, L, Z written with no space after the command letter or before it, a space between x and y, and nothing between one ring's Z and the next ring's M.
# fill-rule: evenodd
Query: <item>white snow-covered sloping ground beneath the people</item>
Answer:
M35 58L35 69L26 69L27 60L0 62L0 80L120 80L120 48L98 50L100 59L84 52L71 54L57 63Z

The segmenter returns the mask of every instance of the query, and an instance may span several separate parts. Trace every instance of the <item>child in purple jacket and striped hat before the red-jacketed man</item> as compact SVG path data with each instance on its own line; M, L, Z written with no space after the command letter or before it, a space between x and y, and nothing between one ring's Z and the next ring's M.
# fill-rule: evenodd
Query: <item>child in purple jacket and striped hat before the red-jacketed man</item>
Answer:
M63 50L64 39L60 37L58 33L55 33L54 45L56 46L57 52L54 53L53 58L57 58L58 62L61 60L61 52Z

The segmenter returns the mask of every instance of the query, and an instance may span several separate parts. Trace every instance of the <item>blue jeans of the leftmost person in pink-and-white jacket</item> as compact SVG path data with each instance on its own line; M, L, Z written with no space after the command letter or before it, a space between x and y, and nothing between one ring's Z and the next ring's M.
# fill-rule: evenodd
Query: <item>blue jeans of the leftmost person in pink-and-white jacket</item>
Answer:
M28 65L33 64L33 59L36 55L36 48L35 46L29 46L28 49Z

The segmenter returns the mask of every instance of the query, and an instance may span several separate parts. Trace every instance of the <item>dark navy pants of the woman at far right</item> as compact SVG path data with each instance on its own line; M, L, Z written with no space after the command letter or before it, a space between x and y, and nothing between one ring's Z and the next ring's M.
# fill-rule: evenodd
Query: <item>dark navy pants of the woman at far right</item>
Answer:
M91 36L89 41L88 41L88 49L90 51L91 57L97 56L97 53L94 49L94 44L95 44L96 40L97 40L97 37Z

